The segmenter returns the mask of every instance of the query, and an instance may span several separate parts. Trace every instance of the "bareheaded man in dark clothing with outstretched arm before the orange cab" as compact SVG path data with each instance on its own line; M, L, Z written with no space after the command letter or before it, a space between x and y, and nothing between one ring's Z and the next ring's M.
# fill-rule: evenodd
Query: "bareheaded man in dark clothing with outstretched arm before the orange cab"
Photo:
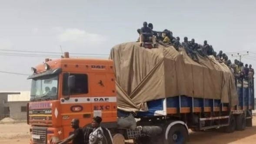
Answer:
M74 129L73 133L64 140L57 142L57 144L67 144L70 141L72 141L72 144L84 144L83 130L79 128L79 119L74 118L71 121L71 127Z

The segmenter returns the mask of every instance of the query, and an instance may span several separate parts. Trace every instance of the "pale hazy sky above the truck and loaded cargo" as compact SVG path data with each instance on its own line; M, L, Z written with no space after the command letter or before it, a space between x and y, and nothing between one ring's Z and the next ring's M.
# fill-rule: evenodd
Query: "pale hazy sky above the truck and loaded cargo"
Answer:
M255 0L1 0L0 49L60 52L61 45L63 51L109 54L114 45L135 41L147 21L181 40L206 39L217 52L256 52L255 7ZM255 56L243 62L254 66ZM43 60L0 55L0 71L30 74ZM0 91L30 89L26 76L0 78Z

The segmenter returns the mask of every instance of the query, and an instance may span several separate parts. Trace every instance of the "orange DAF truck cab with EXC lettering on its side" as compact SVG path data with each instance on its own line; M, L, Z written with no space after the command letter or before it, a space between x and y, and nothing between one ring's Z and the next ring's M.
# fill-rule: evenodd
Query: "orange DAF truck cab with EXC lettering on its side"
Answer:
M50 144L68 137L70 121L80 127L102 117L102 125L115 127L117 119L113 62L103 59L46 59L31 68L33 74L27 121L31 144Z

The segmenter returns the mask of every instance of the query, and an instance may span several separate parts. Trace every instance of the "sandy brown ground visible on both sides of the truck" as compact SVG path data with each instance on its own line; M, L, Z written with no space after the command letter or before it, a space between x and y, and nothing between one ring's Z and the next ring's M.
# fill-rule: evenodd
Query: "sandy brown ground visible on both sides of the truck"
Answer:
M0 124L0 144L28 144L29 126L26 123ZM256 117L253 127L231 134L217 131L191 132L188 144L256 144Z

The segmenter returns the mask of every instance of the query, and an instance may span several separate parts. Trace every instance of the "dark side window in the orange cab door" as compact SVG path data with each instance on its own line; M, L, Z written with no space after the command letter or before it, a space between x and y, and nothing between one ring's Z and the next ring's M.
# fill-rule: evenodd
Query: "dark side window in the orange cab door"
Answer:
M75 88L68 92L68 76L75 76ZM64 73L63 74L63 95L79 95L88 93L88 76L86 74Z

